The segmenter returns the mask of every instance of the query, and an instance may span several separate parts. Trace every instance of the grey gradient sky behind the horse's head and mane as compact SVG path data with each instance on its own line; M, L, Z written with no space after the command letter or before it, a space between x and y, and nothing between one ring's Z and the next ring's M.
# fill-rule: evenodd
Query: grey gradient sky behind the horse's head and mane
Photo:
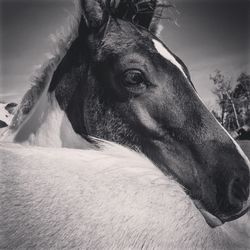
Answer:
M250 73L249 0L172 0L174 22L161 39L189 68L198 93L215 104L209 76L221 70L233 81ZM30 78L52 50L50 35L67 23L69 0L0 0L0 100L20 101ZM167 13L166 13L167 14Z

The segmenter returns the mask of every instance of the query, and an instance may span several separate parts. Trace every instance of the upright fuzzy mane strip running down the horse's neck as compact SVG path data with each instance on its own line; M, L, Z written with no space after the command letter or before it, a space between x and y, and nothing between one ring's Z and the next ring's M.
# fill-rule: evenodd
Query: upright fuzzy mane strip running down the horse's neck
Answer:
M49 87L48 85L57 66L64 58L73 41L78 37L78 28L82 15L80 0L73 0L73 3L75 6L74 13L68 17L64 26L50 36L53 49L48 59L31 76L31 88L23 96L9 126L12 130L18 129L30 114L44 90Z

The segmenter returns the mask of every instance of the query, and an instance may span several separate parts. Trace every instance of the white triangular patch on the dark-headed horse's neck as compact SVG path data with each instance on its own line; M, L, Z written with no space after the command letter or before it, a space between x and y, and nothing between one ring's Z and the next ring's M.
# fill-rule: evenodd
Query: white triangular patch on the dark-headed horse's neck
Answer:
M1 140L44 147L81 149L93 147L74 132L54 93L49 95L46 90L19 130L14 133L11 130L8 131Z

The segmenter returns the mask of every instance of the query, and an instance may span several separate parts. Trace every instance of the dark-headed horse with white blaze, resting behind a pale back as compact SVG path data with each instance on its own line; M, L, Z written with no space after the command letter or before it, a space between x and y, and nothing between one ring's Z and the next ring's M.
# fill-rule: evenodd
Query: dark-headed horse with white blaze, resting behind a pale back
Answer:
M125 2L78 2L74 28L60 37L2 141L99 153L95 138L118 143L179 183L211 227L240 218L249 208L249 161L156 36L168 5L145 1L145 21L143 13L123 15Z

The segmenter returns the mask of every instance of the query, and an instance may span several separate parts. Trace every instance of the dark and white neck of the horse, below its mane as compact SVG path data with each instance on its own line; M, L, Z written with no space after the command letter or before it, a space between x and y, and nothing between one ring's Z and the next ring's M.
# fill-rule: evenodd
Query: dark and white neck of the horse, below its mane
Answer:
M56 69L37 80L46 81L37 100L33 101L37 86L26 93L14 117L14 122L22 122L10 127L3 140L38 146L89 147L80 136L86 134L81 124L81 105L86 92L83 83L87 81L88 58L84 41L78 36Z

